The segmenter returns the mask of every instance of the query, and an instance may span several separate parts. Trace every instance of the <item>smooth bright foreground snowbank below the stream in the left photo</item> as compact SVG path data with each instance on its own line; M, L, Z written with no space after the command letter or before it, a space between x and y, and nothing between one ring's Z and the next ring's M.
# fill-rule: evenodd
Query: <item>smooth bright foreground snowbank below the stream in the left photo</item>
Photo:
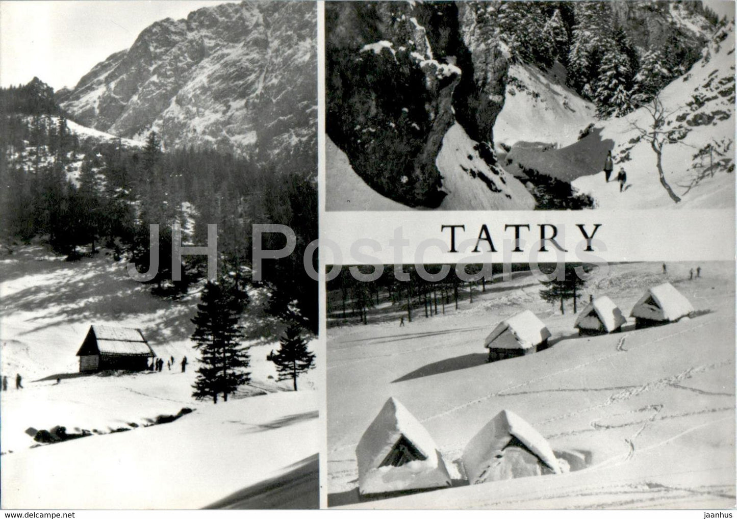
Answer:
M97 393L106 382L80 380L69 396L94 412L109 405L107 395ZM3 395L11 401L18 396ZM321 443L315 391L196 407L172 423L5 454L3 508L201 508L263 480L290 489L296 465L307 463ZM297 482L304 489L304 479ZM293 498L285 492L285 500Z

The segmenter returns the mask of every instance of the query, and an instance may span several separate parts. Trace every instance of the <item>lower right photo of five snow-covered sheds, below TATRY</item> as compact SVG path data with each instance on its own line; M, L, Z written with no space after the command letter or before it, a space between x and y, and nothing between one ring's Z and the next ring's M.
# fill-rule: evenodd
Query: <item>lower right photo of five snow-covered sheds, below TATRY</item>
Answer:
M328 506L734 506L734 262L334 268Z

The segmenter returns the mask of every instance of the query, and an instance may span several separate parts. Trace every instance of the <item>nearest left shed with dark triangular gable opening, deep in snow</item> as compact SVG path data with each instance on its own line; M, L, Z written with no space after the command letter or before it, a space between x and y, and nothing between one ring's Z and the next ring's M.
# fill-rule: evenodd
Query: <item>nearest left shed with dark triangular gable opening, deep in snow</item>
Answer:
M430 433L394 397L356 447L361 495L450 487L450 475Z

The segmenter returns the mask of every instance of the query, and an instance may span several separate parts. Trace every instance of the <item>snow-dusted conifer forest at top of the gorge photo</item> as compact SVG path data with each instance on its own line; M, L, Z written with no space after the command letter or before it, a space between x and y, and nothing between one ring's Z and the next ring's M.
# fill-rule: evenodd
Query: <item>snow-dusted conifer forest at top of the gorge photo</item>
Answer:
M701 3L692 4L714 26L726 23ZM676 33L640 55L607 2L506 1L498 8L475 2L475 8L481 20L495 18L497 38L517 59L543 69L562 63L568 85L595 102L602 118L626 115L649 102L701 58L700 50Z

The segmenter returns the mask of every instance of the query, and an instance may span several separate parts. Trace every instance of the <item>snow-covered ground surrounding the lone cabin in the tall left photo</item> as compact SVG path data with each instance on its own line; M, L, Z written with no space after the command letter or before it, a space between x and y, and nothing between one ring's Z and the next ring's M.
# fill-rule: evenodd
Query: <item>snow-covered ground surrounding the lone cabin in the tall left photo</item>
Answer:
M255 344L250 386L227 403L194 400L189 319L198 300L198 293L178 302L150 296L123 262L104 255L69 263L29 246L0 259L0 360L10 383L0 393L3 508L259 506L266 501L254 492L264 481L284 492L266 489L270 503L317 506L319 370L290 391L291 381L276 382L266 360L278 344ZM160 373L78 376L75 354L90 324L141 328L156 355L176 364ZM316 353L319 362L324 355ZM24 389L15 389L16 373ZM193 412L156 423L182 408ZM27 433L57 425L92 436L41 445ZM113 433L120 428L128 430Z

